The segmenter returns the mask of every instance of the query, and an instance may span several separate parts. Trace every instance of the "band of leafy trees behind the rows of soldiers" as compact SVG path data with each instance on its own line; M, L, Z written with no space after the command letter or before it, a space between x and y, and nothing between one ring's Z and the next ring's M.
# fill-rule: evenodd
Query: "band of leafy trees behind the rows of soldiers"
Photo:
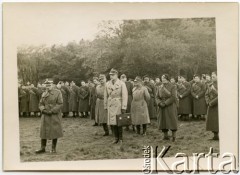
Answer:
M92 41L18 48L19 79L80 84L111 68L131 78L168 73L191 79L216 70L214 18L105 21L99 27Z

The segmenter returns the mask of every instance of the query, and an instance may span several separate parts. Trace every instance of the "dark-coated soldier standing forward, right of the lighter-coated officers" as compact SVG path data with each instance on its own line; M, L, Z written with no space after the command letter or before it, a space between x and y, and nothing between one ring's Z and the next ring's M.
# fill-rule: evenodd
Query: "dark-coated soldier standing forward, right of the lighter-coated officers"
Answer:
M162 76L162 83L156 96L156 103L159 106L158 128L164 133L164 140L169 140L168 130L171 130L174 142L177 131L177 89L170 83L170 77L167 74Z

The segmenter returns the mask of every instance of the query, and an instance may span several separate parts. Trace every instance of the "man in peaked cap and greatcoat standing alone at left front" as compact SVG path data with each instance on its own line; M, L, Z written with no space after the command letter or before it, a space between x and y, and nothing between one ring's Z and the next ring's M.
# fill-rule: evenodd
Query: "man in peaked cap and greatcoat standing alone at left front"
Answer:
M36 150L36 154L44 153L47 139L52 140L51 153L56 153L57 139L63 136L62 131L62 93L57 88L53 88L52 82L46 81L46 91L42 94L39 109L42 112L40 138L41 148Z

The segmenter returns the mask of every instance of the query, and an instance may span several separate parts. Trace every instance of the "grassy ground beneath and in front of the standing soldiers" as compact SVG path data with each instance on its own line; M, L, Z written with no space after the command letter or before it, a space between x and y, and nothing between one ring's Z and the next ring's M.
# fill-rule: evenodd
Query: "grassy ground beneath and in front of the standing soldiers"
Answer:
M113 145L112 135L103 137L101 126L86 118L63 118L64 136L59 139L57 153L50 154L51 140L47 142L47 152L36 155L40 148L40 118L20 118L20 157L23 162L39 161L72 161L96 159L126 159L142 158L143 146L158 146L159 152L163 146L171 145L165 157L174 156L178 152L208 153L209 147L219 152L219 141L209 140L211 132L205 131L205 121L179 121L177 139L175 142L163 141L163 134L157 129L157 121L151 120L147 135L137 135L132 130L123 132L123 147ZM170 133L170 132L169 132Z

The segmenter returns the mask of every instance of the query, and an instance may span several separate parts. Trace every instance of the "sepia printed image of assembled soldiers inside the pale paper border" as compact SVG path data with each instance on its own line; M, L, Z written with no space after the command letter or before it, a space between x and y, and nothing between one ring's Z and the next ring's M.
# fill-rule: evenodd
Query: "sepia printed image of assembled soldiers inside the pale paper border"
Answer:
M36 6L26 5L28 22L19 16L15 43L21 163L143 159L146 147L220 154L227 116L214 16L113 19Z

